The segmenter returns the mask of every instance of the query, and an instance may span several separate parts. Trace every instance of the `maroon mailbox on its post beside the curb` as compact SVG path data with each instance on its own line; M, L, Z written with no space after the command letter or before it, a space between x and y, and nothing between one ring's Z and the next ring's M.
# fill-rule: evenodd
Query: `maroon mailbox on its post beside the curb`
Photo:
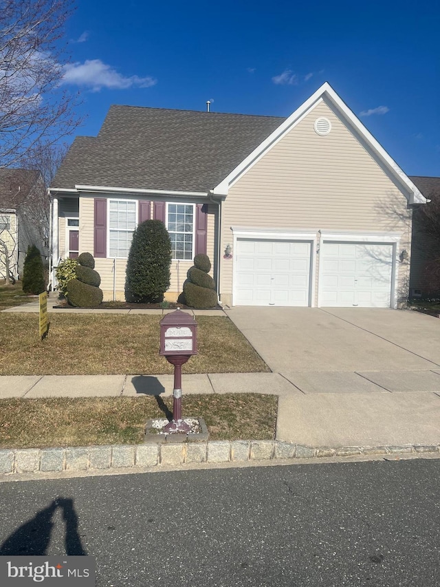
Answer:
M166 314L160 321L160 351L174 365L173 420L164 427L166 432L188 432L190 427L181 419L181 365L197 354L197 323L190 314Z

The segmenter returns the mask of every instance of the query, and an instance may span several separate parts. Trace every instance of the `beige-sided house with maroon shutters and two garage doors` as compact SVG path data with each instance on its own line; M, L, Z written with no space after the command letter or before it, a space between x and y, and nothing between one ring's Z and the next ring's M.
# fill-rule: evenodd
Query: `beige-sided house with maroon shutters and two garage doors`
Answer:
M325 83L289 118L112 106L52 186L54 266L89 251L124 297L135 226L173 243L167 299L196 253L227 305L397 307L426 199Z

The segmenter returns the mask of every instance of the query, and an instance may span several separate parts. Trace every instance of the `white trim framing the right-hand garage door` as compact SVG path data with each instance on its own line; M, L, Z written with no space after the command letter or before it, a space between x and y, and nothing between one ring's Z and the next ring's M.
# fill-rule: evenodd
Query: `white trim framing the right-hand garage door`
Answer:
M325 242L353 242L362 244L364 242L371 244L391 244L393 245L393 268L391 271L391 295L390 308L397 308L397 284L399 283L399 263L397 252L400 250L400 233L351 233L350 231L325 231L321 233L320 249L322 250ZM319 264L318 275L318 308L321 307L321 288L322 288L322 263Z

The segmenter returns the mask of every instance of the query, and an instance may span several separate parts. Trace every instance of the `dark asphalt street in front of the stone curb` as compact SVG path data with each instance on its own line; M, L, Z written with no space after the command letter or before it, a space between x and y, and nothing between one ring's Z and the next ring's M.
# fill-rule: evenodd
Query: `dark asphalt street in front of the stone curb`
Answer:
M2 555L97 586L438 587L440 459L0 484Z

